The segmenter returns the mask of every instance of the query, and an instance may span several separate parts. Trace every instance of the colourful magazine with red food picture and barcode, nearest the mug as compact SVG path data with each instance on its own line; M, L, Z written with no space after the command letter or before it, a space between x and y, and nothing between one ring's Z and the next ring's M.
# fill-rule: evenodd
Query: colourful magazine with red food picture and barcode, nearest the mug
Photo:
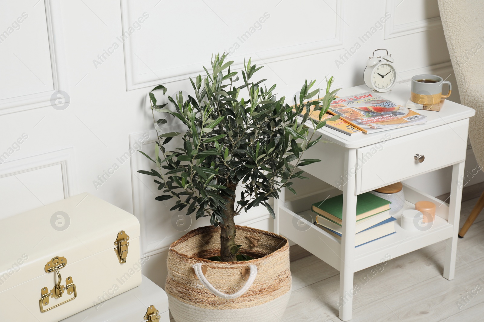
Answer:
M331 103L328 112L340 115L342 119L364 133L426 122L425 115L397 105L372 92L336 98Z

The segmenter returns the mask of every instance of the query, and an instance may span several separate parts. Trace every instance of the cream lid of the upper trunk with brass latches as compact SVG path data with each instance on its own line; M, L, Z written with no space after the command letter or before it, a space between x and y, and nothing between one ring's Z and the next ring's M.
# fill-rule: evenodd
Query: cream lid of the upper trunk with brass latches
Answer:
M51 224L58 211L68 216L65 230ZM69 266L109 248L115 254L114 241L121 230L130 240L139 238L136 217L89 193L0 220L0 276L9 275L0 292L45 274L39 267L55 256L68 253Z

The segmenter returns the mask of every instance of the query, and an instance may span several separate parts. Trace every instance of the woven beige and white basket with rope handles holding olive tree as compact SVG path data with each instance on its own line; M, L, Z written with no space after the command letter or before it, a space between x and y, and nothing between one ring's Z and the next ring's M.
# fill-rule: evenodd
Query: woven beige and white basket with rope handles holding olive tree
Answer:
M282 317L291 293L287 239L245 226L236 230L240 252L256 259L204 259L220 253L220 228L214 226L192 230L171 244L165 291L176 322L273 322ZM245 271L250 274L244 279Z

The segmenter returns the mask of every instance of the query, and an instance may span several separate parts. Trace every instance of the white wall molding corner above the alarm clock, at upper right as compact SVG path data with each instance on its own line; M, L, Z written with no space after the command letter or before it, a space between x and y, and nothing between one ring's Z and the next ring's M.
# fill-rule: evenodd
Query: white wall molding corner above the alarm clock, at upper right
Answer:
M388 19L388 22L385 24L383 39L401 37L416 32L427 31L435 28L442 28L442 22L440 20L440 17L395 25L395 9L395 0L386 0L386 11L392 14L392 17Z

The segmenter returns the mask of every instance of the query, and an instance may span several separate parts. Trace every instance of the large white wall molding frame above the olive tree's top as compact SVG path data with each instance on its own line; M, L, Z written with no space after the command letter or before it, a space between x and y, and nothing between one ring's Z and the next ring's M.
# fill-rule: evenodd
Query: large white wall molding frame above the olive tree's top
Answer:
M336 26L335 26L335 35L331 39L311 42L306 44L299 44L299 45L292 45L283 48L275 48L271 50L266 50L263 52L258 52L256 57L253 57L253 63L272 63L276 61L282 61L286 59L292 59L302 56L310 56L319 53L324 53L328 51L343 49L343 35L345 29L345 22L344 22L344 7L346 5L346 1L344 0L336 0L336 10L335 10L335 19L336 19ZM122 31L124 32L130 27L131 23L130 13L129 13L129 4L128 0L121 0L121 25ZM134 48L132 46L131 38L128 38L123 43L124 49L124 67L125 67L125 74L126 74L126 90L130 91L133 89L138 88L145 88L150 86L156 86L159 84L171 83L176 81L187 80L189 78L196 77L198 74L203 74L204 70L200 68L202 64L196 64L175 68L173 70L178 70L176 72L176 76L171 77L162 77L158 78L156 75L153 75L152 79L145 81L145 82L136 82L135 80L135 73L136 68L134 64L134 59L136 56L134 55ZM256 53L254 53L256 54ZM250 56L250 55L249 55ZM242 56L232 56L230 57L232 60L242 61ZM240 58L240 59L239 59ZM257 58L257 59L256 59ZM259 59L260 58L260 59ZM203 65L210 66L210 62L204 62ZM243 68L243 63L234 64L231 66L231 70L240 70ZM154 71L156 72L156 71ZM153 73L154 73L153 72Z

